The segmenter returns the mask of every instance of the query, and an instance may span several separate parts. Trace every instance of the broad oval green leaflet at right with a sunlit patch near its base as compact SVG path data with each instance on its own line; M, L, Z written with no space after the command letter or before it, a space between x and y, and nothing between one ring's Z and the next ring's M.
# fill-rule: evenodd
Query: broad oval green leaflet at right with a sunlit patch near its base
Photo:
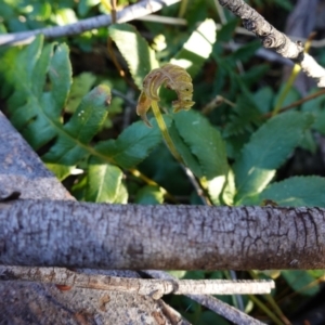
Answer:
M312 122L311 115L288 112L270 119L252 134L234 165L237 204L265 188Z

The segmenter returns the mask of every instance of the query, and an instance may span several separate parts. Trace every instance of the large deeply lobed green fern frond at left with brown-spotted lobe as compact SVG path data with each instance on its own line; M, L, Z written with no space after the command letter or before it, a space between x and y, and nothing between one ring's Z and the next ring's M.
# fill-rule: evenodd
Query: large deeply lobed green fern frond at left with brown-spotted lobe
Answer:
M42 159L60 180L69 176L82 161L87 164L84 169L100 170L106 179L116 180L113 183L118 193L122 187L120 168L134 167L161 142L157 127L147 129L142 122L135 122L117 140L92 144L108 115L110 91L105 84L88 93L69 119L64 121L72 86L67 46L52 43L43 47L43 39L39 36L21 51L9 50L1 61L0 78L3 83L11 84L4 93L10 95L10 119L35 150L48 148ZM22 62L24 68L21 67ZM88 173L88 188L91 188L88 196L101 200L103 195L93 192L98 181L90 180L92 174L95 172ZM115 196L110 193L109 197L112 200ZM126 195L122 194L122 197Z

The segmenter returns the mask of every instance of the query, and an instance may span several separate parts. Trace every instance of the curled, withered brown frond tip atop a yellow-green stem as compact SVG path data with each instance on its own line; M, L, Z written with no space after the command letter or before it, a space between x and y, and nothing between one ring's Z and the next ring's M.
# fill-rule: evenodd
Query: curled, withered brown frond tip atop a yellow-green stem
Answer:
M148 126L151 125L146 118L146 112L151 108L153 101L160 100L158 89L162 84L178 94L178 100L172 102L174 113L181 109L187 110L195 104L192 101L192 78L184 68L174 64L166 64L160 68L153 69L143 80L143 90L136 106L136 114Z

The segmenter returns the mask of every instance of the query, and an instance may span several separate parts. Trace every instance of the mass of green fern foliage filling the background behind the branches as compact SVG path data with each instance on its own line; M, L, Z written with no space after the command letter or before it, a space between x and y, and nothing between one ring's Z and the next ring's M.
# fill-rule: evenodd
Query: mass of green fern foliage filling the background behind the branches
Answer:
M193 77L196 104L191 110L172 114L174 94L168 90L159 92L158 104L166 113L167 131L181 160L213 205L262 205L271 199L278 206L325 207L325 179L301 177L303 169L288 172L286 165L296 158L297 146L308 157L317 152L314 132L325 134L324 96L307 101L299 112L269 118L280 102L282 107L289 105L300 100L300 94L294 88L283 93L278 81L273 82L278 72L253 58L259 42L230 50L237 18L225 12L227 23L217 37L214 22L219 16L213 1L185 2L164 8L161 13L167 17L180 14L186 26L178 26L179 21L170 25L136 22L138 30L131 24L116 24L108 31L102 28L69 38L67 44L62 40L44 42L39 36L28 47L1 49L0 91L5 114L79 200L202 204L188 176L161 141L157 122L152 118L153 128L147 128L133 114L145 76L166 63L178 64ZM251 2L261 6L260 12L265 9L263 1ZM287 0L266 2L289 5ZM2 1L0 31L63 25L107 13L100 0L49 3ZM119 5L127 3L134 1L119 1ZM125 67L125 61L120 62L127 70L125 78L103 51L107 35L114 41L115 60L121 55L127 63ZM91 58L93 62L83 67L84 57L80 58L84 51L101 56L104 64L99 68L98 61ZM70 60L77 74L74 78ZM119 90L123 95L113 96L110 89L113 94ZM217 95L226 101L204 109ZM281 274L301 299L317 292L318 285L310 284L323 272ZM173 275L224 277L222 272L203 271ZM235 304L232 297L221 299ZM171 302L195 324L226 324L186 298L172 297ZM248 299L245 306L249 306Z

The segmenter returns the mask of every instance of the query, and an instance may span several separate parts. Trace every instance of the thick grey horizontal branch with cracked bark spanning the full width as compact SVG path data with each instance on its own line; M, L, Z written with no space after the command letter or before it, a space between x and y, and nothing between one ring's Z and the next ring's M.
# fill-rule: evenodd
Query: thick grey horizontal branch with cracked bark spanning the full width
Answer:
M324 269L325 210L0 204L0 263L160 270Z

